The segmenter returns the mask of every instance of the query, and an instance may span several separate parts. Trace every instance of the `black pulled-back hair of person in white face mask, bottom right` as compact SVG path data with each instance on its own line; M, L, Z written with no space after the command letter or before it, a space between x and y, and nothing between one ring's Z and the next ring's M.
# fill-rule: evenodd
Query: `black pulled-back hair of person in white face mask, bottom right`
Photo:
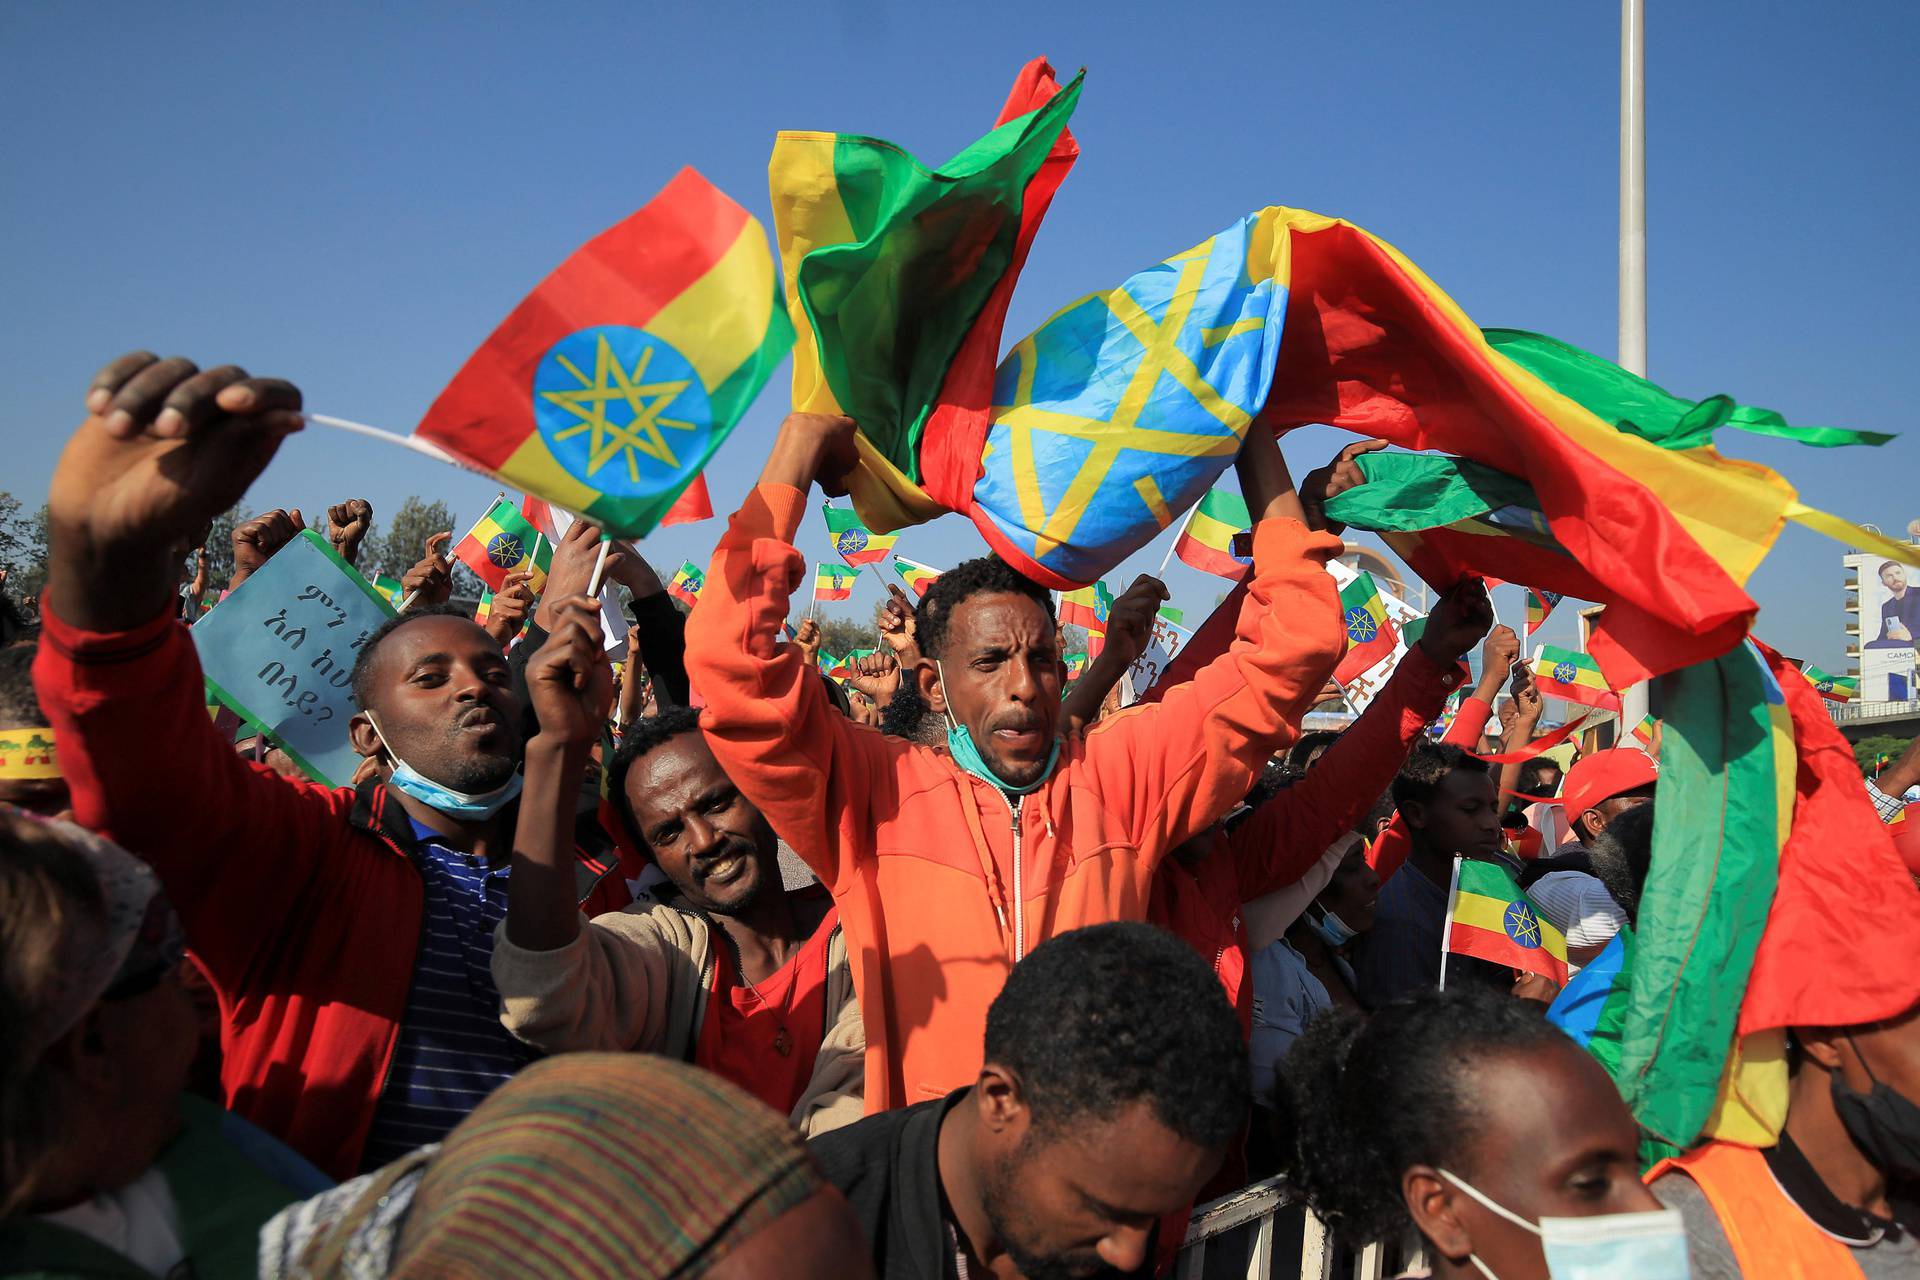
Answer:
M1384 1240L1407 1224L1400 1174L1459 1171L1500 1111L1482 1063L1549 1044L1580 1052L1538 1006L1476 986L1402 996L1373 1017L1336 1006L1281 1065L1286 1173L1350 1244Z

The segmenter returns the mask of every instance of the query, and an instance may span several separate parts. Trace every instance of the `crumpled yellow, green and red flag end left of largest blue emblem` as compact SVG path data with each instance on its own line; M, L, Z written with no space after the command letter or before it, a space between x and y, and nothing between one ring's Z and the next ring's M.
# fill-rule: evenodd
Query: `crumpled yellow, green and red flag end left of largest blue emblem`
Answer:
M879 138L774 142L793 407L860 424L845 480L870 530L966 509L1014 280L1079 155L1066 130L1079 92L1035 58L993 132L939 169Z

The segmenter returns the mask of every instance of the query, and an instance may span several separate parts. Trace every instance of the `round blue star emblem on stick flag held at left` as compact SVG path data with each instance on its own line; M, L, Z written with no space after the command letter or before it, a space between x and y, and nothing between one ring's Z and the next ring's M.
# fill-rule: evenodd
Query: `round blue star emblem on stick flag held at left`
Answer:
M699 372L643 328L593 324L534 370L534 426L555 462L611 497L647 497L699 472L712 403Z

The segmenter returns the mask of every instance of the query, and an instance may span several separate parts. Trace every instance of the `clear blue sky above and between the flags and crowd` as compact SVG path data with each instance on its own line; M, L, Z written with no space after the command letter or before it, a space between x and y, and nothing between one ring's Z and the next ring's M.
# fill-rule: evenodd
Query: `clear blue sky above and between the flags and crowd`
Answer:
M1651 374L1803 422L1908 430L1920 382L1920 10L1649 6ZM1390 240L1482 324L1615 345L1619 13L1586 4L324 4L0 8L0 487L46 491L90 372L154 347L284 374L409 430L574 246L682 165L766 215L776 129L937 163L1014 71L1087 67L1068 178L1008 338L1267 203ZM708 470L732 509L785 374ZM1338 438L1290 438L1296 474ZM1820 453L1728 434L1807 501L1905 530L1910 439ZM311 428L248 501L390 512L484 480ZM826 555L818 516L808 549ZM718 522L647 541L705 557ZM960 518L910 530L935 566ZM1789 530L1761 633L1845 666L1841 549ZM1152 568L1160 545L1112 576ZM1204 610L1219 580L1169 572ZM872 580L854 597L877 599ZM1519 593L1498 597L1517 620ZM1544 639L1569 643L1571 618Z

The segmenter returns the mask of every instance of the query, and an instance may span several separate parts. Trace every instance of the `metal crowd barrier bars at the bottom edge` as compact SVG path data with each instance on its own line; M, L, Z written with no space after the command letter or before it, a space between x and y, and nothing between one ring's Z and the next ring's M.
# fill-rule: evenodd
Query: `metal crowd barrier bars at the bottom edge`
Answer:
M1286 1186L1254 1182L1200 1205L1187 1224L1175 1280L1386 1280L1423 1259L1417 1249L1350 1249Z

